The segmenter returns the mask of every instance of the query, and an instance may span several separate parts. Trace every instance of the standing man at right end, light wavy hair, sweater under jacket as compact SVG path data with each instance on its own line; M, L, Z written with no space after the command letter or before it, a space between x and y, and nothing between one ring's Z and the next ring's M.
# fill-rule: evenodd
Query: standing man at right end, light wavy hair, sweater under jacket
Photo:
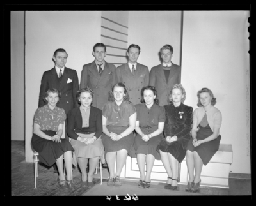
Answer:
M160 49L163 63L154 66L150 70L149 85L156 87L159 105L169 103L169 95L173 85L180 84L181 69L177 64L172 63L173 48L171 45L164 45Z

